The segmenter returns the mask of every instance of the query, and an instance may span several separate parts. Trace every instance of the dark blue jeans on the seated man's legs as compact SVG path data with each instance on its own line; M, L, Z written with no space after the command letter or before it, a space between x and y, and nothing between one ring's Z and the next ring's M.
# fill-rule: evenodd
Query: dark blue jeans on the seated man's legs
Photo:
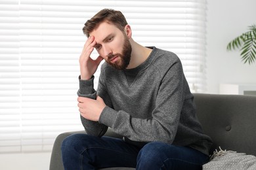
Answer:
M152 142L142 147L112 137L74 134L62 142L66 170L104 167L136 169L202 169L209 156L189 147Z

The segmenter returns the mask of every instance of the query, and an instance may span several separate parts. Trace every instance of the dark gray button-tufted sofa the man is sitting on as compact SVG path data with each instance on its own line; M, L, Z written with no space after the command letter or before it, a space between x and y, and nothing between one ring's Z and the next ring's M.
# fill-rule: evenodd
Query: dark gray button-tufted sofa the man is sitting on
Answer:
M216 95L194 93L197 116L203 130L213 139L213 150L219 146L224 150L234 150L256 156L256 96ZM51 155L50 170L63 170L60 146L62 140L73 133L58 135ZM119 137L109 129L105 135ZM133 169L133 168L106 168Z

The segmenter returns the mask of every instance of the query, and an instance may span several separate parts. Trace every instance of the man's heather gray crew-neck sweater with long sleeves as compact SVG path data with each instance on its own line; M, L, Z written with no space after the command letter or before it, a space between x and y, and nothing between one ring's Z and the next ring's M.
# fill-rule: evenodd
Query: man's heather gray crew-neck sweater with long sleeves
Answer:
M137 74L131 79L129 72ZM144 63L125 71L103 63L97 92L93 79L79 79L77 94L93 99L99 95L107 107L98 122L81 117L88 134L102 136L111 127L128 143L161 141L209 154L211 139L202 133L194 97L174 53L154 47Z

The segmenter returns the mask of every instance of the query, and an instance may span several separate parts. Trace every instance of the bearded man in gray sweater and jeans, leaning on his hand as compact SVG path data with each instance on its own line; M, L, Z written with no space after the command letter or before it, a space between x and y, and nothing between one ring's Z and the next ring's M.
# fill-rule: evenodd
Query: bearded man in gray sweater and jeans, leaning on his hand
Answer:
M179 58L132 39L116 10L100 10L83 27L78 107L87 134L62 143L65 169L136 167L202 169L211 139L202 133ZM99 56L92 59L94 48ZM101 67L97 91L94 74ZM102 137L108 127L122 139Z

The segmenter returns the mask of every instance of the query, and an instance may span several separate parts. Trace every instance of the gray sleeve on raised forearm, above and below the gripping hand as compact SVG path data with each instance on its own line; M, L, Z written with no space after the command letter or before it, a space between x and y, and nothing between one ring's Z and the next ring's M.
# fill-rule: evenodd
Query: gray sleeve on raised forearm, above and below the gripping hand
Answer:
M79 90L77 92L77 95L80 97L88 97L91 99L96 99L96 91L93 88L93 80L94 76L90 80L81 80L79 76ZM99 122L93 122L91 120L87 120L83 118L83 116L80 115L81 123L83 124L83 127L85 128L85 131L89 135L95 135L98 137L101 137L106 133L106 130L108 129L107 126L104 124L100 124Z

